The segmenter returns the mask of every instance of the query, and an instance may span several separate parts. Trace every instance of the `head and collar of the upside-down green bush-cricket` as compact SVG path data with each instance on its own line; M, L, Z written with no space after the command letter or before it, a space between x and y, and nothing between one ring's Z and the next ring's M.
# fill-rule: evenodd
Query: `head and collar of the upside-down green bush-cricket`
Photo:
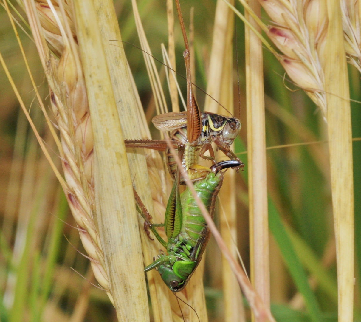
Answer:
M186 286L198 263L178 260L171 267L158 266L158 273L172 292L179 292Z

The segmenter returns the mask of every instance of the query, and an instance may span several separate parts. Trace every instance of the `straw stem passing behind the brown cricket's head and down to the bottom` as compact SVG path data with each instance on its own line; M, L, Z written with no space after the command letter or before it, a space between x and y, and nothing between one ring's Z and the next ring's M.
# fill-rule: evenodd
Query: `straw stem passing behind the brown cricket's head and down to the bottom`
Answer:
M211 65L208 75L207 93L219 100L221 104L233 113L233 65L232 37L234 29L234 14L223 1L218 1L213 30L213 46ZM212 64L213 62L213 64ZM225 114L225 110L210 97L206 98L205 110ZM232 149L232 147L231 147ZM217 153L217 160L224 157ZM236 195L235 173L227 171L218 199L221 206L219 222L221 235L233 256L236 256ZM228 223L228 224L227 224ZM222 281L225 304L225 321L245 321L242 294L231 267L222 257Z

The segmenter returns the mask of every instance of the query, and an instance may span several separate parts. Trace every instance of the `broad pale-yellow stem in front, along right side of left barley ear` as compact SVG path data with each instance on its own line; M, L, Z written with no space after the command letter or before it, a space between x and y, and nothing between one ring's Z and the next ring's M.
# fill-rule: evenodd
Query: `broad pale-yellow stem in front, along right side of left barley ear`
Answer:
M149 321L132 178L100 33L108 26L98 24L90 1L75 1L74 14L94 133L95 222L110 290L119 321Z

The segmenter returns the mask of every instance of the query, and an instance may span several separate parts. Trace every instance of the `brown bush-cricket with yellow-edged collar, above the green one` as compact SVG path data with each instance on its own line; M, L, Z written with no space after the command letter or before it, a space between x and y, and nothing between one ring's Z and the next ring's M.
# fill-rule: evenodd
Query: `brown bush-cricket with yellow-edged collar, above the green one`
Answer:
M186 64L187 112L161 114L154 117L152 122L160 131L172 131L170 139L174 148L177 148L179 143L184 145L185 149L182 164L191 180L195 182L199 178L202 178L205 172L209 171L209 168L196 164L197 151L200 150L200 157L212 160L213 164L216 163L212 142L216 143L217 149L220 149L231 160L239 162L238 169L243 168L243 162L230 150L231 144L241 129L241 122L235 117L226 117L210 112L200 112L192 91L190 50L178 0L176 0L176 4L184 45L186 47L183 56ZM165 140L125 140L125 145L126 147L165 151L169 173L173 179L175 178L177 165L173 155L169 152L169 147ZM207 150L210 156L204 155ZM183 180L181 180L181 183L184 183Z

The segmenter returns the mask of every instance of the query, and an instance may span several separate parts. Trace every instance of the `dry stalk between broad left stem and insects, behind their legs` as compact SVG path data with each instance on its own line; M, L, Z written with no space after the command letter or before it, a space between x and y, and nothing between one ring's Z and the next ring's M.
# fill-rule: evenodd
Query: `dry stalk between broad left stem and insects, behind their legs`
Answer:
M135 3L133 3L133 5L135 6ZM118 103L118 115L123 135L125 138L130 139L151 139L147 122L145 121L143 107L140 103L129 66L127 65L124 49L122 46L118 45L119 43L114 46L113 43L108 41L108 39L121 40L117 18L113 8L113 1L96 0L95 7L99 22L103 26L100 31L105 55L108 61L108 69L112 80L114 96ZM136 9L134 9L134 15L138 25L140 18ZM109 23L109 21L112 22ZM149 58L149 55L147 55L147 58ZM128 74L129 77L124 78L122 77L122 74ZM159 77L154 75L153 79L159 80ZM158 84L158 81L154 82L153 88L157 87ZM164 95L160 91L158 91L157 99L158 105L161 108L166 108L164 105ZM131 108L129 108L130 106ZM166 180L164 179L164 165L158 152L145 151L144 154L145 158L139 150L132 151L129 149L127 156L131 178L134 179L133 184L146 208L155 217L155 222L163 222L164 218L163 220L160 220L158 214L162 213L164 216L164 203L167 200L164 193L166 189L163 187L166 186ZM140 219L140 221L143 225L143 219ZM149 240L143 229L140 230L144 264L149 265L153 261L153 256L159 252L161 246L156 239L153 241ZM169 294L168 287L162 281L157 271L152 270L148 272L147 277L155 321L170 321L171 307L169 304L169 296L174 298L174 295Z

